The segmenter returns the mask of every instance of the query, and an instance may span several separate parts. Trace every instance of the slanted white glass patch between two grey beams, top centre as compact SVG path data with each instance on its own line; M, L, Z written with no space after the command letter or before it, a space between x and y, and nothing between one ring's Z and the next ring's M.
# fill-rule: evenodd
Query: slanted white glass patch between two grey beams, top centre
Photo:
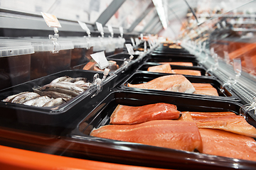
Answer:
M122 28L129 28L151 3L151 0L124 1L124 4L122 4L116 13L114 13L114 16L110 18L110 21L107 22L107 25L117 28L119 26L122 26Z

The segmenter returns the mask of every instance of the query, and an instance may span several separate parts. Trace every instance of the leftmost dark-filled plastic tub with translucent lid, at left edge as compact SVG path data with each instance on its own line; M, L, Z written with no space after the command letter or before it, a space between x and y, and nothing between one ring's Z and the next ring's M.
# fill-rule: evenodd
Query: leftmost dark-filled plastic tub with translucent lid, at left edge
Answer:
M1 39L0 90L30 80L32 54L34 48L29 42Z

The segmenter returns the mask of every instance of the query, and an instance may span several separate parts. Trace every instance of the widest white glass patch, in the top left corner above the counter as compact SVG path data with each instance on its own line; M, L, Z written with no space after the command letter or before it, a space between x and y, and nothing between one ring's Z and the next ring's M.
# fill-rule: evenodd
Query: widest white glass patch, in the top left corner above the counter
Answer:
M111 2L112 0L1 0L0 7L38 15L41 12L51 13L57 18L95 23Z

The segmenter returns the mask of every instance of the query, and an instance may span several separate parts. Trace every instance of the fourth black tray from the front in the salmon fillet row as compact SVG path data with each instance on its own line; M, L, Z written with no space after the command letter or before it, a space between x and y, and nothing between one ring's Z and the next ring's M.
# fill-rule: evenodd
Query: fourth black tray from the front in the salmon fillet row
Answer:
M191 57L186 57L186 58L181 58L181 57L150 57L146 59L145 62L192 62L193 66L200 66L198 60L196 58L191 58Z

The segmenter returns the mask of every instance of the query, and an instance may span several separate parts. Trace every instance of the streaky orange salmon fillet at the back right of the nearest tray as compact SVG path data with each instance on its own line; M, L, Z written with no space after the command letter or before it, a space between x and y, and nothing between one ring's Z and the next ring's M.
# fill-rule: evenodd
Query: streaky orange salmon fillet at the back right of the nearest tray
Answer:
M256 137L256 129L245 118L233 112L188 112L198 128L220 129L248 137ZM182 113L183 114L183 113Z

